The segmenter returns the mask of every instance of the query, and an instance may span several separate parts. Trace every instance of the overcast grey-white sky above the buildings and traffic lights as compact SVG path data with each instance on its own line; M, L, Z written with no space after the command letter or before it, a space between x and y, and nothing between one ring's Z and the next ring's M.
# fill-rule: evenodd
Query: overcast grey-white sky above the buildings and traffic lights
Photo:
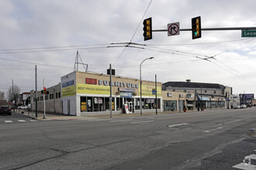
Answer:
M147 7L149 7L147 9ZM256 93L256 40L241 31L202 31L179 36L153 32L144 41L142 20L152 17L153 29L180 22L191 29L201 16L202 28L256 26L254 0L1 0L0 91L13 82L21 92L61 82L74 71L77 50L88 71L106 73L109 63L118 76L154 81L220 83L234 93ZM134 42L125 48L120 42ZM118 47L116 47L118 46ZM214 56L213 59L200 59ZM200 57L200 58L199 58ZM84 71L82 66L79 70Z

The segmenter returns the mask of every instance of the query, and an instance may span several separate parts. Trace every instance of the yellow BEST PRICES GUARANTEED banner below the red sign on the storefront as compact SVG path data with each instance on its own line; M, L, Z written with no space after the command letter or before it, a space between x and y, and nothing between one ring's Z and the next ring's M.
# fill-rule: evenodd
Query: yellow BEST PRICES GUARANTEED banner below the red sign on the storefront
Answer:
M77 93L109 94L110 87L78 83Z

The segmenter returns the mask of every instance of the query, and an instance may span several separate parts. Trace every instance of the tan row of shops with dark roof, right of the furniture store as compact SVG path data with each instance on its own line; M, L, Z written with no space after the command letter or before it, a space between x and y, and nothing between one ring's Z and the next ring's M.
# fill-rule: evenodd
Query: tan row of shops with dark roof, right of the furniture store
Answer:
M232 87L218 83L163 83L164 111L230 108Z

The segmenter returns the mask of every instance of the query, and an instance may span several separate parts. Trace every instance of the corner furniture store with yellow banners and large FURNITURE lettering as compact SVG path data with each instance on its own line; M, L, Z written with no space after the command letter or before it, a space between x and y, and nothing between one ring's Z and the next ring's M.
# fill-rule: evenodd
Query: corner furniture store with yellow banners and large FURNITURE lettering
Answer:
M112 76L112 100L110 100L109 75L74 71L61 77L61 83L47 88L47 111L87 116L96 114L140 113L140 80L124 76ZM156 83L142 81L141 108L143 112L162 111L161 83L157 83L157 100L152 90ZM31 91L33 98L35 93ZM42 110L43 94L37 93L38 110ZM32 109L35 110L35 99ZM54 103L54 104L53 104ZM54 111L55 110L55 111Z

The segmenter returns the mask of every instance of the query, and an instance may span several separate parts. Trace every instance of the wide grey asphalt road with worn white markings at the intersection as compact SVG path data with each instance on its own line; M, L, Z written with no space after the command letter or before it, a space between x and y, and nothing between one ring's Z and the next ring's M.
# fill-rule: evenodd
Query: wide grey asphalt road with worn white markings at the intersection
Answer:
M239 169L256 153L256 108L83 121L5 117L0 169Z

